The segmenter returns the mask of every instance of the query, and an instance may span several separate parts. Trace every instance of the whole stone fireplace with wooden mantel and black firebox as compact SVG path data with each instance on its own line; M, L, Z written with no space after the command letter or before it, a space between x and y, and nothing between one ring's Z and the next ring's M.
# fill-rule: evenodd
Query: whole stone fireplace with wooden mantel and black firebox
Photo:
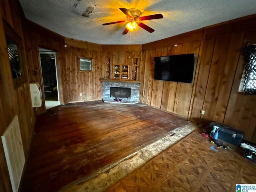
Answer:
M116 102L134 104L139 102L140 82L137 81L116 81L102 80L102 100L104 102Z

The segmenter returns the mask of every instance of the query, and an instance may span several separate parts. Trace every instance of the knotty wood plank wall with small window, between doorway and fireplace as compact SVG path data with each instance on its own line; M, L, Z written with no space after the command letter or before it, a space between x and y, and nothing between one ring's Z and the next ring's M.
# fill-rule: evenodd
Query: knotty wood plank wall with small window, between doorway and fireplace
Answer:
M65 38L65 44L68 102L101 100L100 78L105 70L101 45L69 38ZM93 59L93 71L78 70L79 56Z

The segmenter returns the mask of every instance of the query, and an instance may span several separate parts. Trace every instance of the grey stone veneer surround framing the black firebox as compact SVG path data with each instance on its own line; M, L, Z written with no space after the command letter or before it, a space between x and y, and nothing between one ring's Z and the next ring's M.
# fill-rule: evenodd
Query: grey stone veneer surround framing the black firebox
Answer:
M131 88L131 98L122 98L121 103L134 104L139 102L140 82L129 81L102 81L102 100L104 102L115 102L114 97L110 97L110 87ZM118 103L118 102L117 102Z

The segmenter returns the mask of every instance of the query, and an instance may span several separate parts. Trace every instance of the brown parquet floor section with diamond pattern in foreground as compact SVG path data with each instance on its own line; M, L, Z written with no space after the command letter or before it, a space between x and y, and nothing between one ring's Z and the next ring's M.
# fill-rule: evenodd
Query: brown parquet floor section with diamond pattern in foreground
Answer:
M234 192L235 184L255 184L256 163L229 146L217 148L196 130L106 192Z

